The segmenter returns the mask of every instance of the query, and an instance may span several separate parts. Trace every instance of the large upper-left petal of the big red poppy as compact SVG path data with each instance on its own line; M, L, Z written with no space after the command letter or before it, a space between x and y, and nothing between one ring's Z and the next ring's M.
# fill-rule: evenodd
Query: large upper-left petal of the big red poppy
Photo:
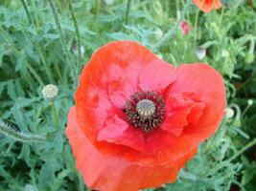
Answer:
M108 117L122 113L128 97L139 91L139 74L155 60L151 51L132 41L108 43L92 55L75 95L79 123L90 140Z

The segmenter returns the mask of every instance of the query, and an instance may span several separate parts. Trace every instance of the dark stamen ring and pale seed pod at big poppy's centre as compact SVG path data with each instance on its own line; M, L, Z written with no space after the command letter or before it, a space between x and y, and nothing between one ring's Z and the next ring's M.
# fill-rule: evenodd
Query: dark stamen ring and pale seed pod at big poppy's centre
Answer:
M151 132L163 121L164 99L155 92L135 93L127 100L125 113L133 127Z

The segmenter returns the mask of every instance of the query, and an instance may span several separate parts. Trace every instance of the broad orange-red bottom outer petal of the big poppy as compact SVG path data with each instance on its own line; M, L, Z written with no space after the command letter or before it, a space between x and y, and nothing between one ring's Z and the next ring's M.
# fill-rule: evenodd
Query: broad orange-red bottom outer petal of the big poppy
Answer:
M76 159L76 166L86 185L92 189L137 191L174 182L178 170L197 152L195 148L179 159L153 165L143 165L122 157L105 155L81 132L74 107L70 109L68 118L66 135Z

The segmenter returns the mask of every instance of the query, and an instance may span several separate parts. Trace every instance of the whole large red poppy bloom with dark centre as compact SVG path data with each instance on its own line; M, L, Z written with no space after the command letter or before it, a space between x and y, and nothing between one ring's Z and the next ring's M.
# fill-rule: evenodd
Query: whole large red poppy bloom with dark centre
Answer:
M111 42L84 67L66 129L87 186L137 191L174 182L224 114L221 75L178 68L131 41Z

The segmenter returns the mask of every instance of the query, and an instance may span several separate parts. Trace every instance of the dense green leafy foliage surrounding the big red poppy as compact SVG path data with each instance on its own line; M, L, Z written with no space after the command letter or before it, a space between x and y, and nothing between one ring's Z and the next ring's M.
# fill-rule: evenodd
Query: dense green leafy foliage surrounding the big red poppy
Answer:
M208 14L183 0L2 0L0 190L86 189L64 134L66 116L84 63L118 39L139 41L175 66L198 62L198 48L205 49L202 62L225 80L221 128L176 183L158 190L255 190L255 18L255 0ZM58 86L54 102L41 94L49 83Z

